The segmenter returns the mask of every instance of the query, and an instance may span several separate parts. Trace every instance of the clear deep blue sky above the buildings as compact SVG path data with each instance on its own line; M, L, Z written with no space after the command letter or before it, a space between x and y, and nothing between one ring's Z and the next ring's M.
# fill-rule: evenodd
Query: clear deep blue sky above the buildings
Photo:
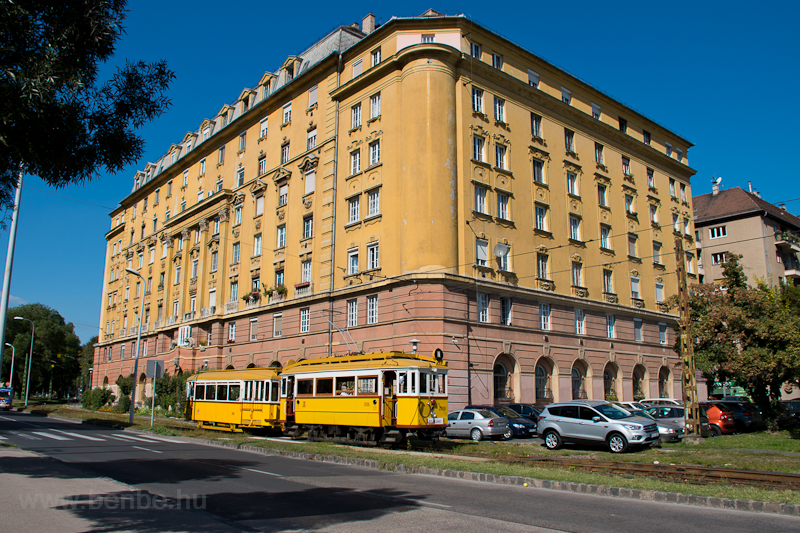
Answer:
M344 7L341 7L344 6ZM602 6L602 7L601 7ZM695 144L693 193L752 181L770 202L800 214L800 2L248 2L131 0L115 61L166 59L172 108L141 130L145 156L117 175L63 190L26 178L9 306L39 302L75 325L82 341L100 320L109 211L133 173L342 24L378 23L428 8L463 13ZM115 68L109 64L101 75ZM57 196L58 195L58 196ZM0 231L5 261L8 229Z

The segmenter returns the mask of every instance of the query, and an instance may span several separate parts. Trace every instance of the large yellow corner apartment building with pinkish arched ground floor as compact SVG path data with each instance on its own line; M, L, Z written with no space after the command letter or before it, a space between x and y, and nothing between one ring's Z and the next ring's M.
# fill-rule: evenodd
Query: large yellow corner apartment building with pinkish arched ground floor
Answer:
M132 372L142 315L171 372L413 340L454 406L680 395L692 144L464 16L356 26L136 173L94 385Z

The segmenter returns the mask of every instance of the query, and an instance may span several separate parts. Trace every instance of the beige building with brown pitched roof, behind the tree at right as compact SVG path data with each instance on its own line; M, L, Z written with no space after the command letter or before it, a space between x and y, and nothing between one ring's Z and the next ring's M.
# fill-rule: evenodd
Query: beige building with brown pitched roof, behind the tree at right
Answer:
M748 281L777 285L800 280L800 218L741 187L695 196L694 224L700 281L718 283L727 254L743 256Z

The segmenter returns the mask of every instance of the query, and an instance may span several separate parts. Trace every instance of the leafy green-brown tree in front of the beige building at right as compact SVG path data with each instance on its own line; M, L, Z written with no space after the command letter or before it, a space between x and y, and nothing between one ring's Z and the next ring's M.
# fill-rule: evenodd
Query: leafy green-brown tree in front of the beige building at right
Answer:
M781 386L800 378L800 314L779 288L748 286L741 257L726 254L723 287L692 287L695 362L706 376L744 387L774 425Z

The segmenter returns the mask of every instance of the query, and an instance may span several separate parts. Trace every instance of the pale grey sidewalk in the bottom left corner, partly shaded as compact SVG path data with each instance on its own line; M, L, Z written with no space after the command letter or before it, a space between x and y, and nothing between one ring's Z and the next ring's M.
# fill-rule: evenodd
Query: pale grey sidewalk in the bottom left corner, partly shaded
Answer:
M60 461L0 446L4 531L238 531L205 513L205 500L164 498Z

